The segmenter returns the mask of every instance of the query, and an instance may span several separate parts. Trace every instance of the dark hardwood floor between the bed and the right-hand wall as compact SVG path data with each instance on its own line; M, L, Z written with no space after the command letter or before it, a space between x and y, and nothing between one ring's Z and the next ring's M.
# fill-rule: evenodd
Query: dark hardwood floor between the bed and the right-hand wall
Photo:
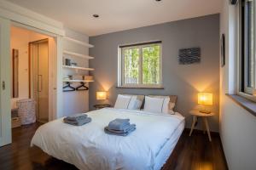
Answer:
M172 155L163 170L225 170L228 169L218 133L211 133L212 142L207 133L194 130L189 137L185 129Z

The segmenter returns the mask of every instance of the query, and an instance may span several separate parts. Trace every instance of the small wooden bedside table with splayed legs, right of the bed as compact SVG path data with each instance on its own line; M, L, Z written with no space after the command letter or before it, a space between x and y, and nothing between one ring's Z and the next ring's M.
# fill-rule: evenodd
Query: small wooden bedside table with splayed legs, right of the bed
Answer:
M193 122L192 122L192 126L191 126L191 129L190 129L189 136L191 136L191 134L194 130L195 122L197 121L197 118L201 117L203 122L205 123L206 128L207 128L208 138L209 138L210 141L212 141L207 118L210 117L210 116L214 116L214 113L211 112L211 113L207 114L207 113L201 113L200 111L189 111L189 114L193 116Z

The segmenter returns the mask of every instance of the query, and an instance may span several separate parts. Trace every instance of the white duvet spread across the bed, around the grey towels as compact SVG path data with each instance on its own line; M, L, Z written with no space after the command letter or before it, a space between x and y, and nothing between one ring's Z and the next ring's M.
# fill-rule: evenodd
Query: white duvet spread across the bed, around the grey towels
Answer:
M110 108L86 114L92 122L84 126L63 123L63 118L42 125L31 144L79 169L154 169L160 149L184 119ZM126 137L104 133L104 127L115 118L129 118L137 129Z

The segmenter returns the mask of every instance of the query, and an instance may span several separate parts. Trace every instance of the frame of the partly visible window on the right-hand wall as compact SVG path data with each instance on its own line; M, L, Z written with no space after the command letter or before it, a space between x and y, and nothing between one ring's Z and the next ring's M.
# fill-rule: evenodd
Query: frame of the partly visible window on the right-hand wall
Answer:
M248 73L248 69L249 69L249 65L250 63L248 62L248 59L250 59L250 47L248 45L248 41L249 40L249 36L248 36L248 28L247 28L247 21L250 20L247 17L246 11L247 10L247 6L246 6L246 1L247 0L241 0L240 1L240 17L239 17L239 25L240 25L240 38L241 41L239 43L240 46L240 57L239 57L239 89L238 89L238 94L240 94L241 96L248 98L248 99L253 99L256 101L255 99L255 80L256 80L256 56L255 56L255 52L253 54L253 87L248 86L248 77L250 76ZM255 5L255 9L254 9L254 18L256 19L256 4ZM256 42L256 37L255 37L255 28L256 28L256 22L254 21L253 23L254 25L254 31L253 31L253 35L254 35L254 42L253 42L253 48L254 51L256 50L255 47L255 42Z

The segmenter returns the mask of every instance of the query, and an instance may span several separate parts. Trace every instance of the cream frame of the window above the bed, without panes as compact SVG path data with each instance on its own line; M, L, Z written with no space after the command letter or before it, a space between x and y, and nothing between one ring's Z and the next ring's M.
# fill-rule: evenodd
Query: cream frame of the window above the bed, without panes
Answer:
M160 83L158 84L143 84L143 48L150 47L154 44L160 46ZM139 83L125 83L125 53L126 49L131 48L139 48ZM118 87L119 88L163 88L162 82L162 42L161 41L154 41L154 42L140 42L135 44L129 45L122 45L119 46L119 74L118 74Z

